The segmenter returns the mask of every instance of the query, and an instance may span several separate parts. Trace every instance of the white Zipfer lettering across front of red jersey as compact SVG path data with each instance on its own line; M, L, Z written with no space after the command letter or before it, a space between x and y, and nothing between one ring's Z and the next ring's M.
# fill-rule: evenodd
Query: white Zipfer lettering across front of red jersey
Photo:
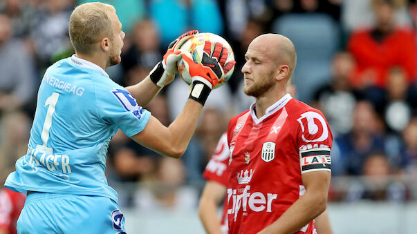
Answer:
M261 212L266 208L266 212L272 212L272 201L277 199L278 195L276 193L266 193L261 192L250 193L250 185L245 186L245 188L239 188L239 193L237 195L237 189L228 188L228 204L232 198L232 208L228 209L228 214L234 214L234 222L237 220L237 214L242 208L242 212L248 211L248 206L251 211Z

